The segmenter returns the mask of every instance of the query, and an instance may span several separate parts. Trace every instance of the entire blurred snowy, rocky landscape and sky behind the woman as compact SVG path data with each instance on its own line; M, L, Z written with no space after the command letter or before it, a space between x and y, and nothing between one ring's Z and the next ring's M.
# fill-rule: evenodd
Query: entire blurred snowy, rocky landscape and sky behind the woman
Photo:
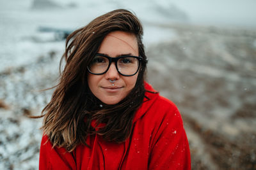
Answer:
M0 1L0 169L38 169L65 36L117 8L145 29L147 81L177 104L193 169L256 169L256 1Z

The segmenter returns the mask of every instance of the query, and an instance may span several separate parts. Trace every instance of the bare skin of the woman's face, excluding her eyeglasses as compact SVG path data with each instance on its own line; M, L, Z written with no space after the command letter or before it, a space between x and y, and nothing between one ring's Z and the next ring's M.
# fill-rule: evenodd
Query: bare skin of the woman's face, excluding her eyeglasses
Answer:
M99 52L109 57L121 55L138 56L138 43L134 34L124 31L110 32L102 41ZM133 89L138 78L122 76L112 62L108 71L102 75L88 74L88 85L94 96L105 104L116 104L124 99ZM111 83L109 80L115 80Z

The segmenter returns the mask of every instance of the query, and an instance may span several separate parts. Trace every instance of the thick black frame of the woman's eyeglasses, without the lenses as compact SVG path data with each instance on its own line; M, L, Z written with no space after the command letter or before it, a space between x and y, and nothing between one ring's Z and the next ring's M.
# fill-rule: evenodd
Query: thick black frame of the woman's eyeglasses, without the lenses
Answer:
M108 55L104 55L102 53L96 53L95 55L99 55L99 56L102 56L102 57L106 57L108 60L109 60L109 64L108 64L108 68L106 69L106 71L104 71L103 73L92 73L92 71L90 71L89 67L87 66L87 69L89 71L89 73L91 74L95 74L95 75L102 75L102 74L105 74L107 73L110 65L112 62L115 62L115 66L116 66L116 70L118 71L119 74L121 74L122 76L134 76L136 73L138 73L139 69L140 69L140 63L141 63L141 60L143 60L143 57L139 57L139 56L132 56L132 55L124 55L124 56L120 56L120 57L109 57ZM117 67L117 61L118 59L122 59L122 58L125 58L125 57L134 57L136 59L139 60L139 66L138 66L138 69L137 71L134 73L134 74L122 74L120 73L120 71L118 70L118 67Z

